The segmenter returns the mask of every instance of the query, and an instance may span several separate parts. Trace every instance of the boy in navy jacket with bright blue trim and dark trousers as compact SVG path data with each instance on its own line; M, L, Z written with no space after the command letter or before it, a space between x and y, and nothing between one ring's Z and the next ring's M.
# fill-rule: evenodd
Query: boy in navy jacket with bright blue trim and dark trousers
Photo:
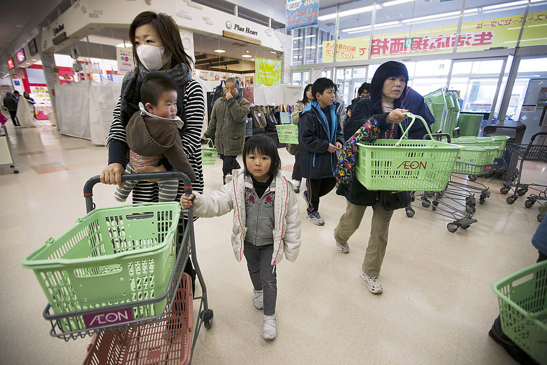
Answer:
M344 136L336 113L334 83L322 77L311 87L313 101L300 114L298 144L300 169L306 178L302 195L307 202L307 217L313 224L324 225L319 215L319 198L336 184L336 152L342 149Z

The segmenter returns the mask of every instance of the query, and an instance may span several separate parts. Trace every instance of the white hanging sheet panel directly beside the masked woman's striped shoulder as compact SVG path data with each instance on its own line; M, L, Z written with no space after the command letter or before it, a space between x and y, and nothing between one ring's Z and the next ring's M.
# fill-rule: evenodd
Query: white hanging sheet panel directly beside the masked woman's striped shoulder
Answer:
M106 146L106 137L112 124L112 111L118 102L121 83L104 78L101 83L91 83L89 91L89 126L91 143Z

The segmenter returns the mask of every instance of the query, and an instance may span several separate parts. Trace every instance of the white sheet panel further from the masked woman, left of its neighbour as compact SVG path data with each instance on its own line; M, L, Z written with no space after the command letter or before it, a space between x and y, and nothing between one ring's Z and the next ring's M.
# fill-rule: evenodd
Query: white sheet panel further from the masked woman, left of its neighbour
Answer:
M67 136L90 139L88 83L68 83L55 89L57 123Z

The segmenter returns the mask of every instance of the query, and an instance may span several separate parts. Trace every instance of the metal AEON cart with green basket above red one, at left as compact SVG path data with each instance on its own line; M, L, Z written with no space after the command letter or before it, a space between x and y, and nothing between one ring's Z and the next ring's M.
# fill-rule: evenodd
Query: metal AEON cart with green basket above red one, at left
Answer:
M158 178L182 179L185 194L191 194L190 180L182 172L122 176L123 181ZM42 279L49 302L43 316L51 323L50 335L66 341L95 335L88 359L101 358L95 356L103 353L101 349L119 350L124 344L138 349L133 358L148 354L148 359L157 359L153 354L158 354L161 340L171 344L168 351L162 347L161 356L187 354L181 361L190 361L201 325L211 328L213 320L197 264L191 208L181 210L177 202L164 202L96 210L92 189L99 181L95 176L84 186L88 215L23 261L24 267ZM73 259L77 246L84 250L78 255L87 255L86 259ZM192 285L184 273L190 257L201 287L197 297L191 294ZM108 281L112 285L105 285ZM120 289L108 292L111 286ZM200 300L194 331L193 300ZM124 358L130 348L118 350L115 361L108 363L131 360Z

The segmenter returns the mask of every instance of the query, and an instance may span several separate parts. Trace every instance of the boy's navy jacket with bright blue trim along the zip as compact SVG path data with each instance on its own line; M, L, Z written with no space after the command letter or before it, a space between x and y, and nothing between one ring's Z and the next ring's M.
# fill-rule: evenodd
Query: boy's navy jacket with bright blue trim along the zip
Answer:
M317 101L309 103L300 114L298 144L302 177L321 179L333 177L336 169L336 153L327 152L330 144L344 144L344 136L336 114L338 103L327 107L330 123Z

